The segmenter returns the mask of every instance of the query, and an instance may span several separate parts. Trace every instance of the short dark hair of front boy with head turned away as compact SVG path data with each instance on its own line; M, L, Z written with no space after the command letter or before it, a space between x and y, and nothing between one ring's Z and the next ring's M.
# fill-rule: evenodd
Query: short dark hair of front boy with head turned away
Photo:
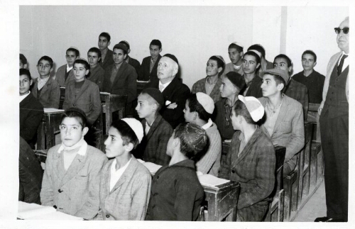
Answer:
M199 125L180 123L173 135L180 140L180 152L191 160L200 158L200 152L204 152L207 147L206 131Z

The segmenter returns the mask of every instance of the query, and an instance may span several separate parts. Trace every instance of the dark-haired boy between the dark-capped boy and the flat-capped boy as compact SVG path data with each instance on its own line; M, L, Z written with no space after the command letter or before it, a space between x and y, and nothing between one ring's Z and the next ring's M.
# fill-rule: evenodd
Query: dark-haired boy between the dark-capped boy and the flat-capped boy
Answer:
M261 84L263 83L261 78L258 77L258 69L260 67L261 53L252 50L248 51L243 56L243 77L246 82L246 86L241 91L244 96L253 96L256 98L262 97Z

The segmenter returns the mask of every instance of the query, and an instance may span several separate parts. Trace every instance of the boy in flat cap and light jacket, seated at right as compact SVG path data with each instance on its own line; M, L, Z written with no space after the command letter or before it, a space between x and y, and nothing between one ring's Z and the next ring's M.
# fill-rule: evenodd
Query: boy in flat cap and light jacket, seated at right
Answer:
M284 177L295 169L297 153L305 145L302 105L282 92L289 79L285 70L265 70L261 84L263 97L259 99L266 111L263 132L271 138L273 145L286 147Z

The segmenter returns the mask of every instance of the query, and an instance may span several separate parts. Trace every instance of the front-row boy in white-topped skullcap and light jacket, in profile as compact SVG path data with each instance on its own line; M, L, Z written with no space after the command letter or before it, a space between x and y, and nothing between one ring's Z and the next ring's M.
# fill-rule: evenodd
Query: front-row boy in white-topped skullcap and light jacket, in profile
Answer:
M142 124L135 118L114 121L105 141L112 158L100 179L100 210L96 220L144 220L151 194L151 173L131 155L143 138Z

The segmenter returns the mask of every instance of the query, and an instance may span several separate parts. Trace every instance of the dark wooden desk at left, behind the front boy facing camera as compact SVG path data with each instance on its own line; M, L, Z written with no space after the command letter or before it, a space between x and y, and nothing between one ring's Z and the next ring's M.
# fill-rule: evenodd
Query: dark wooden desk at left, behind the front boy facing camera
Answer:
M48 150L55 146L55 135L60 133L59 125L64 111L46 112L37 130L37 150Z

